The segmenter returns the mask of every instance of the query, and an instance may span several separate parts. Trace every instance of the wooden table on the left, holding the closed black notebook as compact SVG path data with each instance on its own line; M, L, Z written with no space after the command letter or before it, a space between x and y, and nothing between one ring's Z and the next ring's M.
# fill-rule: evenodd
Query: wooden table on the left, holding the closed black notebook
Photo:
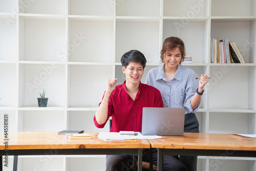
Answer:
M138 155L138 170L142 170L142 148L150 148L145 140L104 141L98 133L88 133L93 139L67 139L57 132L10 132L7 139L0 137L0 162L5 156L4 144L8 141L8 156L18 155ZM3 157L2 157L3 156ZM5 159L4 159L5 160ZM15 160L14 160L15 161ZM15 163L16 165L17 163ZM135 165L136 166L136 165ZM1 165L2 168L2 165ZM15 170L16 168L14 168ZM134 167L134 170L136 167ZM1 169L2 170L2 169Z

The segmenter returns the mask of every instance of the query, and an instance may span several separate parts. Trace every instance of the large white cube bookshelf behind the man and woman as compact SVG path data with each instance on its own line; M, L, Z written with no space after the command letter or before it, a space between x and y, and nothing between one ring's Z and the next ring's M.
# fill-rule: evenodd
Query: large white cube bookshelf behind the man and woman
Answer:
M212 76L196 112L200 132L255 134L255 0L0 0L0 124L9 114L9 131L108 131L93 116L106 79L125 79L121 55L137 49L146 56L144 82L169 36L182 38L192 55L184 66ZM245 63L210 63L211 37L236 41ZM38 108L43 89L48 107ZM104 170L105 156L18 161L19 170L83 167ZM256 171L256 160L199 156L198 170L216 169Z

